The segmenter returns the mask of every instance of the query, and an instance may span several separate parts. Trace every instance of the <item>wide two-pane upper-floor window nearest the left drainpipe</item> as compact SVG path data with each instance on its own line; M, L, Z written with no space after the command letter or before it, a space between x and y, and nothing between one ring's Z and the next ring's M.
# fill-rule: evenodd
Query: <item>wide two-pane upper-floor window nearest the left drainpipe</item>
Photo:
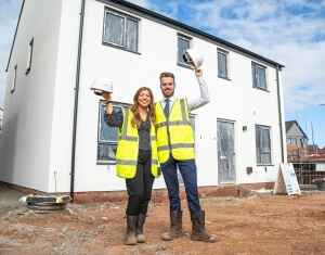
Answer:
M138 52L139 20L105 10L103 41Z

